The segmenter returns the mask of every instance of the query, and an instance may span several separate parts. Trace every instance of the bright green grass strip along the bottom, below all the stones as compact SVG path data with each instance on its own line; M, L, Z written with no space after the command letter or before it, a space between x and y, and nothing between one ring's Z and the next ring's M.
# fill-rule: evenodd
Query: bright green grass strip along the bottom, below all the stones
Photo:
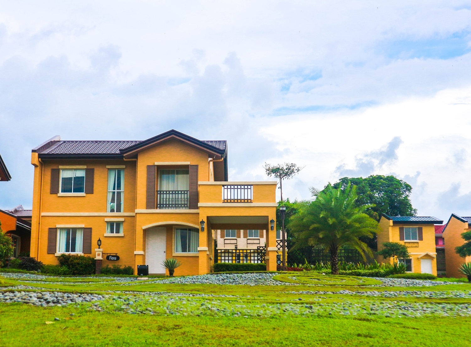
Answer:
M61 320L45 324L55 317ZM450 347L469 344L470 324L464 317L176 317L3 304L0 346Z

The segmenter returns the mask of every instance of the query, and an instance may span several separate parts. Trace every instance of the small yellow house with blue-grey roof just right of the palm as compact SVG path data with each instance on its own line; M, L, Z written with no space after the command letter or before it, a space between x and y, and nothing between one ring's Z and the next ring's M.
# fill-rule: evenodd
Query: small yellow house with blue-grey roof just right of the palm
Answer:
M390 217L382 214L379 222L378 251L384 242L406 245L409 259L399 259L406 264L407 272L437 275L437 251L435 249L435 224L443 224L435 217ZM382 256L378 262L385 262ZM393 259L386 259L392 263Z

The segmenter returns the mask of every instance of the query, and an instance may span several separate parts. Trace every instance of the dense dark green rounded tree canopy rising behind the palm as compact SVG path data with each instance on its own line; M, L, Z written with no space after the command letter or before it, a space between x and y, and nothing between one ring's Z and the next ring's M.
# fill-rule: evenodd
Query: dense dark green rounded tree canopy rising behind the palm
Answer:
M365 212L376 220L379 220L382 213L389 216L417 214L410 201L412 187L397 177L392 175L371 175L367 178L343 177L334 183L333 187L344 189L349 183L357 186L357 206L372 205Z

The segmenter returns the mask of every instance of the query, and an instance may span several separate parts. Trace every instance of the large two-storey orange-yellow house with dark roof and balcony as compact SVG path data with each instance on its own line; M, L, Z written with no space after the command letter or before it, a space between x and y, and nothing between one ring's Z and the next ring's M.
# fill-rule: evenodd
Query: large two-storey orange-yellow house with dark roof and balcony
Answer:
M103 255L120 258L103 265L163 274L162 261L173 257L182 263L176 274L206 274L216 230L250 229L263 233L267 270L276 270L277 182L229 182L226 141L176 130L145 141L57 136L32 150L31 163L31 256L44 264L61 253L100 258L100 238Z

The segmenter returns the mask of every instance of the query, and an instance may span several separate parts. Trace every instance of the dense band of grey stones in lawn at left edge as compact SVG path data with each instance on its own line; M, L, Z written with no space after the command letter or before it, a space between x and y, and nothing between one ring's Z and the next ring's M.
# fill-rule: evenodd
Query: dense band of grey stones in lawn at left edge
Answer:
M109 295L97 294L72 294L50 291L0 291L0 302L22 302L34 306L51 307L66 306L69 304L80 304L81 302L92 302L103 300Z

